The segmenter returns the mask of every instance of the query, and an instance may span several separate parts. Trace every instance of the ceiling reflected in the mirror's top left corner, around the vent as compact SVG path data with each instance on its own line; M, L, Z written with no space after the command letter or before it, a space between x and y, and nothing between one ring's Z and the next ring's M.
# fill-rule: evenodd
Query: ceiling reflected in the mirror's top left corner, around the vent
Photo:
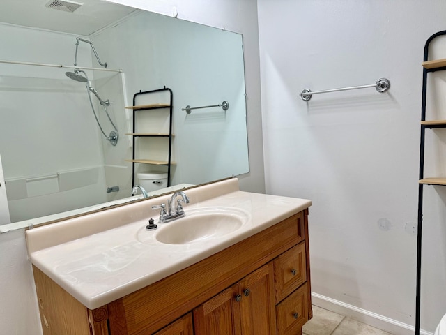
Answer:
M0 22L89 36L135 10L104 0L75 0L82 6L71 13L47 8L45 4L48 2L0 0Z

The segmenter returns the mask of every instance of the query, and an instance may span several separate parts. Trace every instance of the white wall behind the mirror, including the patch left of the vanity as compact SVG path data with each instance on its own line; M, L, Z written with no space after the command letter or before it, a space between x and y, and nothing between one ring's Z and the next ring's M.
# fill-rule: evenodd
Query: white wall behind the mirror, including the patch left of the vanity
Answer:
M118 2L118 1L116 1ZM164 14L171 14L174 1L121 0L128 5L144 5ZM244 36L245 73L247 87L247 122L249 161L251 171L240 181L246 191L264 191L263 149L261 137L261 103L259 74L259 40L257 31L256 1L218 0L209 5L205 0L182 1L178 17L193 22L226 27ZM11 248L9 241L15 241ZM8 255L7 263L0 264L0 325L5 334L40 334L38 308L31 276L31 265L26 258L24 230L0 235L0 254Z

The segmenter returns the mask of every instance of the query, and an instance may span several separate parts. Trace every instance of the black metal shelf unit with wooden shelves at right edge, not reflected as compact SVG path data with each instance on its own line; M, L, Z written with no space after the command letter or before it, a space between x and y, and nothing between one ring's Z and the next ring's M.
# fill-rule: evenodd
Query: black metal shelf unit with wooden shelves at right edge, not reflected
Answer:
M431 72L446 70L446 59L429 59L429 45L438 36L446 35L446 31L438 31L426 40L423 58L423 88L421 106L421 135L420 135L420 180L418 183L418 225L417 225L417 288L415 298L415 335L420 335L420 304L421 304L421 263L422 263L422 221L423 221L423 190L426 185L444 185L446 178L424 177L424 141L426 130L446 128L446 120L426 120L427 78Z

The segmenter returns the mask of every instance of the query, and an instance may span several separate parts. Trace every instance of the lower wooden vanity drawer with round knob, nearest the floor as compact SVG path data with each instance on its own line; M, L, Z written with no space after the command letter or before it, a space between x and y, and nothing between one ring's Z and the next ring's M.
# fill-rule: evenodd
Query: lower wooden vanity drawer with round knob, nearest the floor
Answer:
M277 335L300 334L308 320L307 295L305 283L276 306Z

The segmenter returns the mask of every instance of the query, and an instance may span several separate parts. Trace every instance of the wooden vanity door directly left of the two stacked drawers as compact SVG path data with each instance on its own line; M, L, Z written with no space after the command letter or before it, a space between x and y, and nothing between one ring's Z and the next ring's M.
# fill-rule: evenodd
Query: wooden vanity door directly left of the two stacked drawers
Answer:
M276 332L272 262L252 272L239 288L240 321L243 335L271 335Z

